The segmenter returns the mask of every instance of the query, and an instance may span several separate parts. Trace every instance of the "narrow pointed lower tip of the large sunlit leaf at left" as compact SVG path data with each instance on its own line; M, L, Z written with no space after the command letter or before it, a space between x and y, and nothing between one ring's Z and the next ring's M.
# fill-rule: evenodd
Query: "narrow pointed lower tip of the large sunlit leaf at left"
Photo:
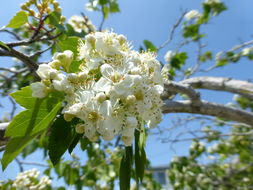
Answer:
M28 145L28 143L39 134L40 133L37 133L32 136L27 135L24 137L16 137L10 139L5 148L5 152L1 160L2 169L4 170L9 165L9 163L11 163L11 161L26 147L26 145Z

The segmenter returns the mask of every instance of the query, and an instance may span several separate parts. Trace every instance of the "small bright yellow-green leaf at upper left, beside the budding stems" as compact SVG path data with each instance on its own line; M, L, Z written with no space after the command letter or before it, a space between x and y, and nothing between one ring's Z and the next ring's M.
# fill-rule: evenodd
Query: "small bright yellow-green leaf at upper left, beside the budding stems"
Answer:
M19 11L17 14L10 20L9 24L6 27L9 28L19 28L28 22L28 13L25 11Z

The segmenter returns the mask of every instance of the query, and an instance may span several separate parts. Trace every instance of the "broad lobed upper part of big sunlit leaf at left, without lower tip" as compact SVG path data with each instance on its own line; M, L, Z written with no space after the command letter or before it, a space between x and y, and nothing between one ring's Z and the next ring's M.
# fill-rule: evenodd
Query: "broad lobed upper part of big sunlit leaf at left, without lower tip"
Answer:
M57 92L43 99L34 98L30 87L22 88L11 96L27 110L13 118L5 132L7 137L32 136L47 129L61 109L63 100Z

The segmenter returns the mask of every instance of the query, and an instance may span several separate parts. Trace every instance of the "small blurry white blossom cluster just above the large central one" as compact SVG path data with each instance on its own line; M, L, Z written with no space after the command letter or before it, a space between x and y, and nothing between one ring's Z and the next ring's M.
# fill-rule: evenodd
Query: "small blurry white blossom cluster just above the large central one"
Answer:
M84 31L85 33L90 33L96 31L96 27L86 16L74 15L70 17L68 24L70 24L76 32Z

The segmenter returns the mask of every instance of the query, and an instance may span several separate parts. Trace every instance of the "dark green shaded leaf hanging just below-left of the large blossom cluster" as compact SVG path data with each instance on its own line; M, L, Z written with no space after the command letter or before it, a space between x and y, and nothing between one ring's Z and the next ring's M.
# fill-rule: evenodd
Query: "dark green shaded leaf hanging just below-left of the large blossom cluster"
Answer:
M73 142L75 131L71 127L71 122L65 121L62 115L55 120L51 128L48 144L49 158L53 165L56 165Z

